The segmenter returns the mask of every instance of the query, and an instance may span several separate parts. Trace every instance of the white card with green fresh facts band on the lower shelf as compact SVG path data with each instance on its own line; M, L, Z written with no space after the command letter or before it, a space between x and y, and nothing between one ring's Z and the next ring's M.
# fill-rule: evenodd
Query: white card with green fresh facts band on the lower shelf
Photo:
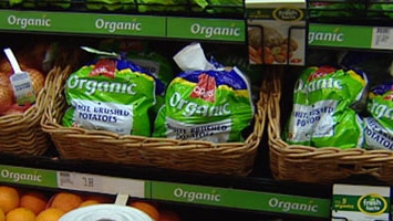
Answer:
M332 220L389 221L390 187L334 185Z

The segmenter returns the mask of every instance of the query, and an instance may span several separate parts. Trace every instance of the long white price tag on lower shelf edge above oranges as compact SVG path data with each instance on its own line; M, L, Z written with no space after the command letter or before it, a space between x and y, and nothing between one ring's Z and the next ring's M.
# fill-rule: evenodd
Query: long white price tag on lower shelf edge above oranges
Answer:
M58 187L110 194L127 193L132 197L145 198L144 180L58 171Z

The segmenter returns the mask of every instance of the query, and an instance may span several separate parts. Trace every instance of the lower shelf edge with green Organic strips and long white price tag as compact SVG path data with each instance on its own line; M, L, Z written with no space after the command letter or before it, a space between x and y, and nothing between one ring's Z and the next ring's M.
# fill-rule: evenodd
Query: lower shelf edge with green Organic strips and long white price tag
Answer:
M328 219L331 187L45 157L0 156L0 182L130 194L156 201ZM291 208L288 208L291 204Z

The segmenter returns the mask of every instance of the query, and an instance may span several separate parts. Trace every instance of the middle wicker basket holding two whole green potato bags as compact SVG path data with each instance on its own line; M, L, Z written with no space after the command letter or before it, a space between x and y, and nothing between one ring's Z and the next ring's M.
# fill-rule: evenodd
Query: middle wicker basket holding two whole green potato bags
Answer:
M251 172L263 131L263 106L267 106L263 101L267 102L267 95L260 95L254 130L245 143L214 144L118 135L103 130L69 128L60 124L68 106L63 85L70 74L71 69L65 67L62 72L49 76L51 84L44 91L49 105L41 122L43 130L51 135L62 158L235 176L247 176Z

